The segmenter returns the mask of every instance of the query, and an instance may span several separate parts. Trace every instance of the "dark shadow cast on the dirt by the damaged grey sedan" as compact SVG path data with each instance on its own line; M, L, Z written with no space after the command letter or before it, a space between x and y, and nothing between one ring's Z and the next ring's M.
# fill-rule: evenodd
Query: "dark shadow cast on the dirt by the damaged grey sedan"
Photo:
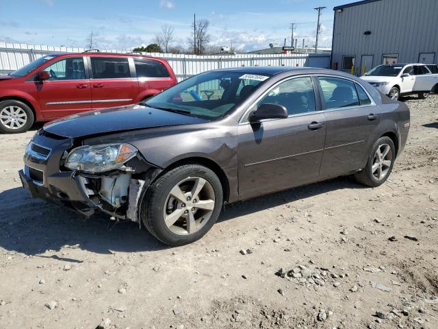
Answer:
M361 185L351 178L336 178L237 202L225 206L218 221L236 219L342 188L357 189ZM309 200L307 206L311 206L311 203ZM96 254L153 252L170 248L157 241L144 227L139 229L138 223L116 223L105 215L94 215L86 219L66 206L31 199L23 188L11 188L0 193L0 247L7 252L71 263L81 263L81 260L43 254L55 253L62 247L79 248Z

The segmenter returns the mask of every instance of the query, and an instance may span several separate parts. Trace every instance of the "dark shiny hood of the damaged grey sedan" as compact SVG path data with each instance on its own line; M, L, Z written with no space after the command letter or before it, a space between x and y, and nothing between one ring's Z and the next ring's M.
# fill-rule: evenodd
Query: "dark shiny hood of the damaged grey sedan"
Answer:
M111 132L205 122L207 120L189 117L184 114L157 110L148 106L133 105L70 115L46 123L43 129L57 136L77 138Z

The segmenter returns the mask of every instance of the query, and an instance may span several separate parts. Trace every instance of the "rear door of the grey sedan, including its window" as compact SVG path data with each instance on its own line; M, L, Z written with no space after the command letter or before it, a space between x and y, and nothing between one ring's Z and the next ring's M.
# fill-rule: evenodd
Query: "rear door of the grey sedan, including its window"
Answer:
M363 169L381 121L378 107L352 80L328 76L318 80L326 116L320 178Z

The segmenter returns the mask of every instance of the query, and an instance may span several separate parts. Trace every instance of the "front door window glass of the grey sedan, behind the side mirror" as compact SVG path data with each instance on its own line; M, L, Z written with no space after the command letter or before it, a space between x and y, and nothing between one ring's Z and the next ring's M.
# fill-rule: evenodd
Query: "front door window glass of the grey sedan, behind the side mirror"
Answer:
M246 88L246 87L244 87ZM241 95L244 88L242 88ZM289 115L315 111L315 93L310 77L296 77L274 87L263 97L257 106L263 103L276 103L285 106Z

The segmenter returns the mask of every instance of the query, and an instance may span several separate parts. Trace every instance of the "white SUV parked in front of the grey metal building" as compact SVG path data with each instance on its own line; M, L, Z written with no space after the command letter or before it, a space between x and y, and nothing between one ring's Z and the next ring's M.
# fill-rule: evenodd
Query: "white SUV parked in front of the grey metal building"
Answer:
M426 98L430 90L438 85L438 74L431 73L424 64L379 65L365 73L361 79L395 100L400 95L412 94Z

